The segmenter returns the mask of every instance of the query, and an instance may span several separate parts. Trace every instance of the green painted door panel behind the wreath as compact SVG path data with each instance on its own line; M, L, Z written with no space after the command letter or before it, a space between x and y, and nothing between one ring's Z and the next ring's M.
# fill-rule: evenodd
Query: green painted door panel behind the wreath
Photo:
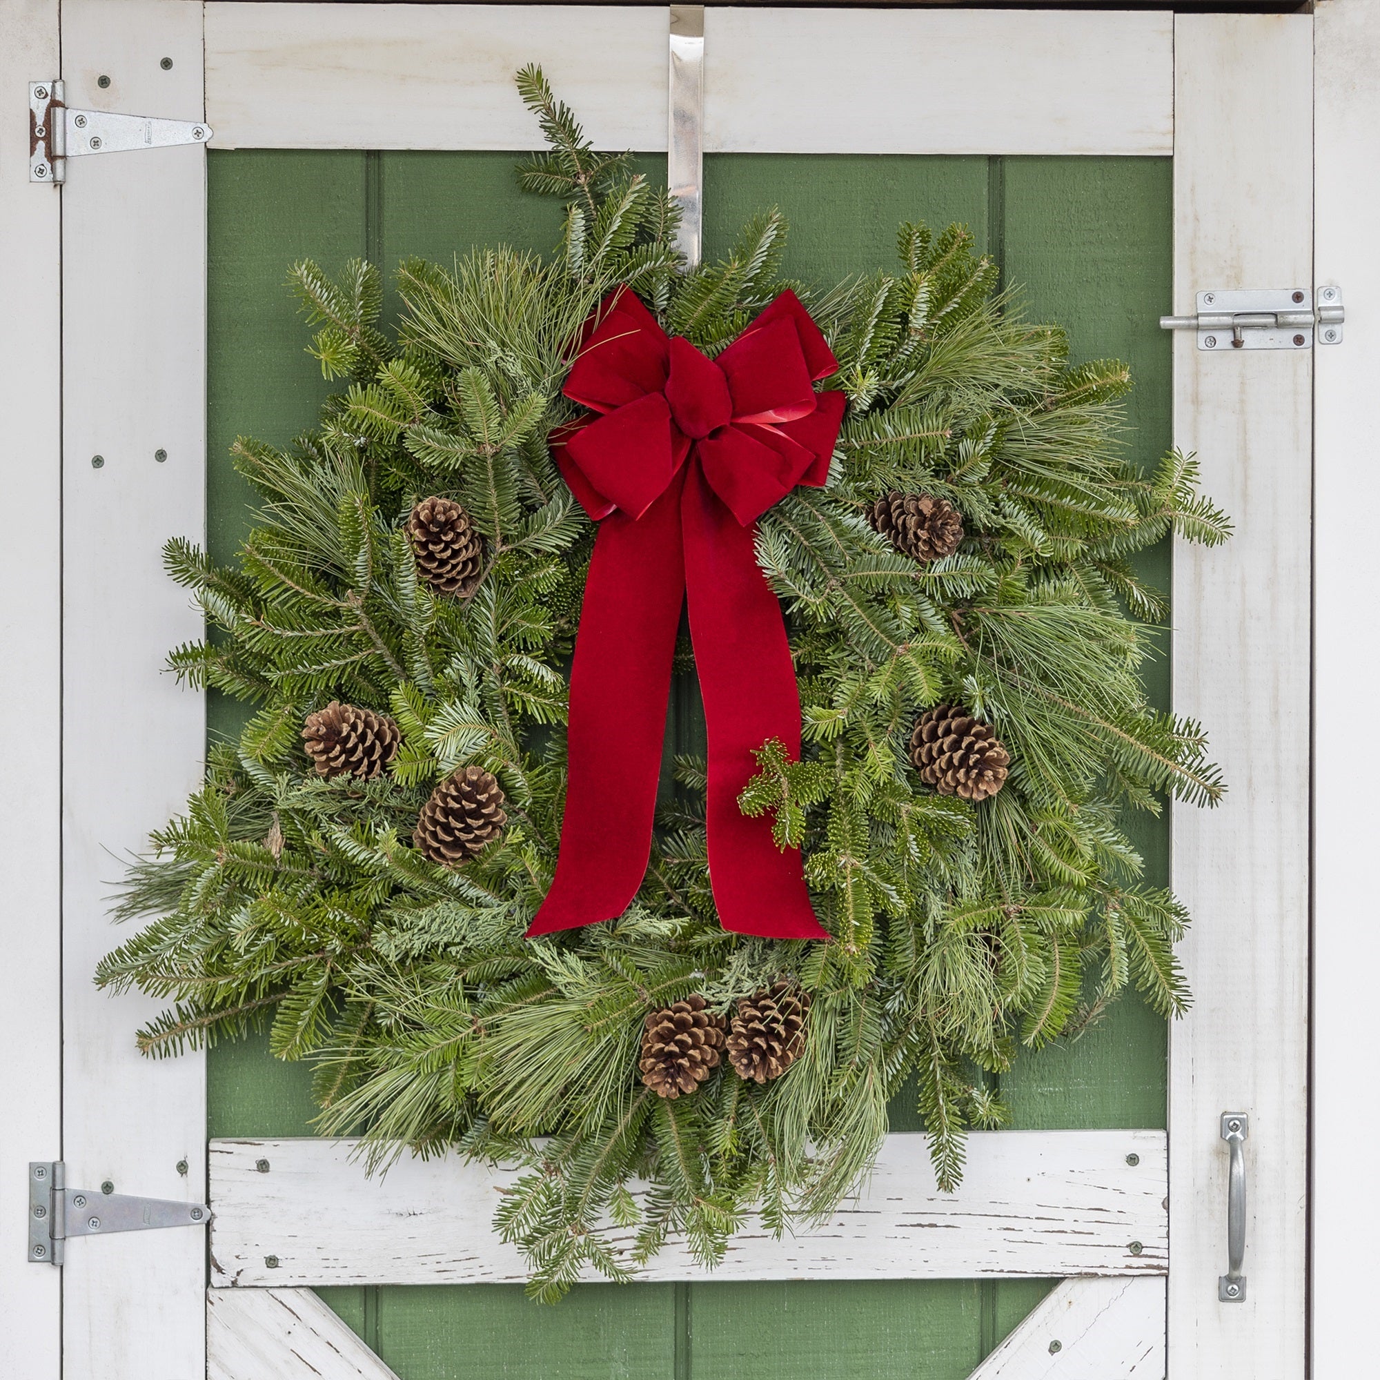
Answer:
M284 288L288 265L328 272L353 255L391 269L448 264L471 246L545 250L560 207L518 190L508 153L210 152L208 540L219 560L248 529L250 494L229 462L236 435L284 442L327 392ZM665 161L647 157L649 175ZM1137 381L1127 446L1150 461L1170 442L1170 167L1162 159L715 156L705 160L707 253L753 213L792 225L787 272L827 283L890 266L901 219L966 222L1056 320L1076 359L1116 356ZM1169 584L1167 549L1143 570ZM1167 668L1152 668L1167 702ZM673 731L698 737L693 684ZM241 708L211 696L210 731ZM1167 821L1136 835L1167 883ZM1127 998L1078 1041L1018 1060L1002 1079L1023 1127L1163 1126L1165 1027ZM310 1071L259 1038L210 1054L211 1136L310 1133ZM918 1129L907 1100L897 1129ZM1047 1292L1047 1281L585 1285L564 1303L518 1286L327 1289L323 1297L402 1380L962 1380Z

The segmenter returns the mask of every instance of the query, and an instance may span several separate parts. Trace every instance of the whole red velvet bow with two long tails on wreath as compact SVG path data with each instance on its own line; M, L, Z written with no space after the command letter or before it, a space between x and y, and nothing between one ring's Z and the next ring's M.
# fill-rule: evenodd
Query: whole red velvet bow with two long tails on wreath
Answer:
M709 880L740 934L828 938L798 849L738 810L753 749L800 752L800 701L781 606L753 553L756 519L796 484L824 484L843 393L793 293L716 359L668 339L621 287L585 323L566 396L593 417L552 435L585 512L602 520L570 676L570 785L560 857L529 936L622 915L642 885L680 604L709 737Z

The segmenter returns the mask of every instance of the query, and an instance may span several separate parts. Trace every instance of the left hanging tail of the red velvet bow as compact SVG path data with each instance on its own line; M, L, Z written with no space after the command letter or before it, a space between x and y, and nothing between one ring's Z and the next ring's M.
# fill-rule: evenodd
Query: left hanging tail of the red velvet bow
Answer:
M595 538L570 672L570 782L556 878L527 937L611 920L642 886L684 599L682 480Z

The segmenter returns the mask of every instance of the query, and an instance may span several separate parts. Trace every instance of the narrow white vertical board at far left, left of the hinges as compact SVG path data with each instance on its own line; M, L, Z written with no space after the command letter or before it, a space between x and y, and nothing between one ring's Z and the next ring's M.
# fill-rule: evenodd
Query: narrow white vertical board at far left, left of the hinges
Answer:
M58 75L57 0L0 6L0 1308L6 1361L61 1373L61 1276L29 1264L30 1159L62 1145L62 283L61 200L29 184L30 81Z

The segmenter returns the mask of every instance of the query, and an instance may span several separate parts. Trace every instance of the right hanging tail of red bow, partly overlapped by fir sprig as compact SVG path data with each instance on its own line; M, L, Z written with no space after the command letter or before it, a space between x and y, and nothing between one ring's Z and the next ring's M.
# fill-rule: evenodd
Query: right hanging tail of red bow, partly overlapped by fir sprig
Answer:
M771 821L748 818L738 795L756 773L753 749L780 738L800 755L800 697L781 604L747 527L689 466L680 519L690 635L709 734L709 880L719 922L737 934L827 940L810 905L799 849L781 850Z

